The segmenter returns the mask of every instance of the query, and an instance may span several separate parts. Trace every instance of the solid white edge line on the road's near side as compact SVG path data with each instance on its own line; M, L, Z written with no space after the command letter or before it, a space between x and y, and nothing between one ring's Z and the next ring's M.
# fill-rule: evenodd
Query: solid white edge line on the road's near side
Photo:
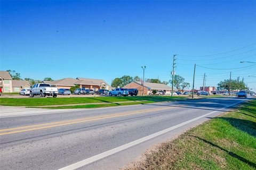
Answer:
M246 99L246 100L247 100L247 99ZM245 100L243 100L243 101L245 101ZM165 129L165 130L162 130L162 131L159 131L159 132L150 134L150 135L148 135L148 136L146 136L146 137L143 137L143 138L140 138L140 139L138 139L138 140L134 140L134 141L132 141L132 142L126 143L125 145L119 146L119 147L114 148L114 149L110 149L110 150L108 150L108 151L102 152L101 154L92 156L92 157L90 157L90 158L81 160L81 161L79 161L79 162L77 162L77 163L74 163L74 164L68 165L68 166L66 166L66 167L60 168L59 170L73 170L73 169L77 169L77 168L79 168L79 167L82 167L82 166L85 166L85 165L87 165L87 164L93 163L93 162L95 162L95 161L97 161L97 160L99 160L99 159L102 159L102 158L105 158L105 157L107 157L107 156L113 155L113 154L115 154L115 153L117 153L117 152L119 152L119 151L122 151L122 150L124 150L124 149L130 148L130 147L132 147L132 146L134 146L134 145L138 145L139 143L145 142L145 141L147 141L147 140L149 140L149 139L155 138L155 137L157 137L157 136L159 136L159 135L162 135L162 134L164 134L164 133L166 133L166 132L169 132L169 131L172 131L172 130L174 130L174 129L180 128L180 127L183 126L183 125L186 125L186 124L188 124L188 123L194 122L194 121L196 121L196 120L198 120L198 119L200 119L200 118L203 118L203 117L205 117L205 116L207 116L207 115L213 114L213 113L215 113L215 112L219 112L219 111L221 111L221 109L225 109L225 108L228 108L228 107L237 105L237 104L239 104L239 103L242 103L243 101L239 101L238 103L229 105L229 106L227 106L227 107L220 108L220 109L218 109L218 110L216 110L216 111L212 111L212 112L207 113L207 114L204 114L204 115L202 115L202 116L198 116L198 117L193 118L193 119L191 119L191 120L189 120L189 121L186 121L186 122L177 124L177 125L175 125L175 126L172 126L171 128L167 128L167 129Z

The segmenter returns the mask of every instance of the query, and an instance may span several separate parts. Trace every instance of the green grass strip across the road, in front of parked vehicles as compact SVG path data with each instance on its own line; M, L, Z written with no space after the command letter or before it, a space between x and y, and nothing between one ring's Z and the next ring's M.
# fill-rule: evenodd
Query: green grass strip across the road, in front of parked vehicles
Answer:
M71 98L0 98L4 106L50 106L66 104L111 103L117 101L173 101L188 99L184 96L127 96L127 97L71 97ZM82 106L81 106L82 107ZM88 107L88 106L86 106Z

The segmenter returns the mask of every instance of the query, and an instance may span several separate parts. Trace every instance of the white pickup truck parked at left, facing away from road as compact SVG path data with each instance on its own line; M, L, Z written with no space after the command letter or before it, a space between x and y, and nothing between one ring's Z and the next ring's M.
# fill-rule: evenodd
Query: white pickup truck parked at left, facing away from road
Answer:
M52 96L55 98L58 95L58 88L51 87L51 84L37 83L31 87L29 92L30 97L34 97L36 95L40 95L41 97Z

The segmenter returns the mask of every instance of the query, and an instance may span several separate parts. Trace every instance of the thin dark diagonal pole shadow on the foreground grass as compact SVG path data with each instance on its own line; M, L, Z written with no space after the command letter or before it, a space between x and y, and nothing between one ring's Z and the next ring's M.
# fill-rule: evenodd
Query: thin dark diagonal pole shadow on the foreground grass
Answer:
M196 137L196 136L193 136L193 135L190 135L190 137L194 137L194 138L197 138L197 139L199 139L199 140L202 140L202 141L204 141L205 143L208 143L209 145L211 145L211 146L213 146L213 147L216 147L216 148L218 148L218 149L220 149L220 150L223 150L223 151L227 152L227 154L230 155L231 157L236 158L236 159L238 159L238 160L241 160L241 161L244 162L245 164L248 164L248 165L252 166L253 168L256 168L256 164L254 164L254 163L250 162L249 160L247 160L247 159L245 159L245 158L243 158L243 157L241 157L241 156L235 154L234 152L228 151L228 150L226 150L226 149L224 149L224 148L222 148L222 147L220 147L220 146L218 146L218 145L216 145L216 144L214 144L214 143L212 143L212 142L210 142L210 141L207 141L207 140L205 140L205 139L202 139L202 138L199 138L199 137Z

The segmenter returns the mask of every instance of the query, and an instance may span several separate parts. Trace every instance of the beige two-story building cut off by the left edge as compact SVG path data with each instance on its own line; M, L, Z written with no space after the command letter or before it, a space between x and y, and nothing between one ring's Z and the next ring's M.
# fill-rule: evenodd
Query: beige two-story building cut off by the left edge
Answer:
M2 92L12 92L12 77L7 71L0 71L0 88Z

